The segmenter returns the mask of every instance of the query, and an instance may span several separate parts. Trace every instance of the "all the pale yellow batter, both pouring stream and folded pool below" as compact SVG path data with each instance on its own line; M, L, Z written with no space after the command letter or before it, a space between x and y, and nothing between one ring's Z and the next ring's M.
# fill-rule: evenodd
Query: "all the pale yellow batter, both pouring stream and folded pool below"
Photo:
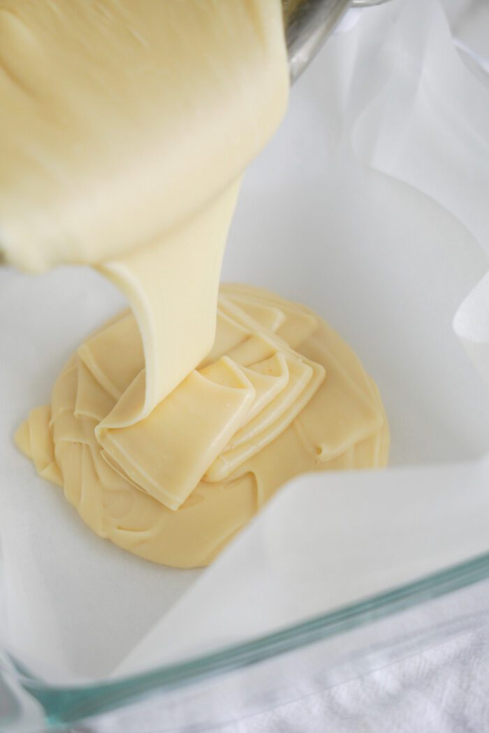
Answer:
M378 391L326 323L218 294L240 174L287 92L279 0L0 0L0 249L91 264L131 307L16 441L152 561L205 565L291 476L387 460Z

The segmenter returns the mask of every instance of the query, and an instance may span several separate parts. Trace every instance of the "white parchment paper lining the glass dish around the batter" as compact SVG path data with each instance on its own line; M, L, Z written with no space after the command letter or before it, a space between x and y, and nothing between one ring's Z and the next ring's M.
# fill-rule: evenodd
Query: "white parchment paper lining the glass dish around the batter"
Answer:
M16 451L122 301L89 270L2 268L0 628L19 663L64 683L130 674L489 550L489 390L460 344L485 372L488 115L435 0L365 11L293 89L246 174L224 279L303 301L348 340L386 403L391 468L295 480L204 572L98 539Z

